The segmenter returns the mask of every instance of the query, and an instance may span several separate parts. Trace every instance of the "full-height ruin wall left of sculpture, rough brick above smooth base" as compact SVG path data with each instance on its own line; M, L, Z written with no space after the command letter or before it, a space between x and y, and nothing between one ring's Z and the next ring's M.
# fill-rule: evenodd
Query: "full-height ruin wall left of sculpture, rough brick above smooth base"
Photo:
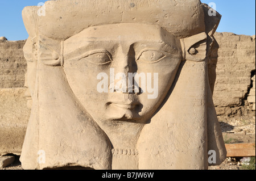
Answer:
M27 71L22 41L0 41L0 155L20 154L30 110L24 97Z

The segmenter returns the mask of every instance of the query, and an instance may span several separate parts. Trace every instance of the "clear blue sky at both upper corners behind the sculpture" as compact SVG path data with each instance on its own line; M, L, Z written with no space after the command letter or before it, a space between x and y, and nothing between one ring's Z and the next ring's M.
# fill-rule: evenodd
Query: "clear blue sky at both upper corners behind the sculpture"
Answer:
M86 0L85 0L86 1ZM28 34L23 25L22 9L25 6L37 6L44 0L1 0L0 1L0 37L8 40L24 40ZM209 4L214 2L216 10L222 15L217 32L233 32L238 35L255 35L255 0L201 0Z

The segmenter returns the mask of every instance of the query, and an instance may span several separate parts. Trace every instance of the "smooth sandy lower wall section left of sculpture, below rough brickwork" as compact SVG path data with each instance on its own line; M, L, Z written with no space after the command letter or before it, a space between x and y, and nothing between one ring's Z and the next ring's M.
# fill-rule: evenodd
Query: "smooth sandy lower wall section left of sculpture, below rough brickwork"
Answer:
M0 89L0 155L20 155L30 110L24 93L27 89Z

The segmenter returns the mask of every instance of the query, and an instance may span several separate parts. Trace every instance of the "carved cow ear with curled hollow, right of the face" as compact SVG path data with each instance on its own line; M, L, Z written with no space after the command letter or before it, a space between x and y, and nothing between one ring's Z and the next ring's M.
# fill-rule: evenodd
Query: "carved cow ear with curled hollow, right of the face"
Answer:
M207 57L207 34L199 33L181 39L181 46L183 48L183 60L201 62L205 61Z

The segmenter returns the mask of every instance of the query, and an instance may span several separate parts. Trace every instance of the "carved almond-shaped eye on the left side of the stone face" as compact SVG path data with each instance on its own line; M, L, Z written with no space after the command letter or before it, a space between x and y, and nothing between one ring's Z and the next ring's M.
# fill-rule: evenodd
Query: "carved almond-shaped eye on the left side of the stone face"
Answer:
M91 52L86 53L86 56L83 56L83 58L86 61L91 62L92 64L97 65L105 65L112 62L111 55L106 50L93 50Z

